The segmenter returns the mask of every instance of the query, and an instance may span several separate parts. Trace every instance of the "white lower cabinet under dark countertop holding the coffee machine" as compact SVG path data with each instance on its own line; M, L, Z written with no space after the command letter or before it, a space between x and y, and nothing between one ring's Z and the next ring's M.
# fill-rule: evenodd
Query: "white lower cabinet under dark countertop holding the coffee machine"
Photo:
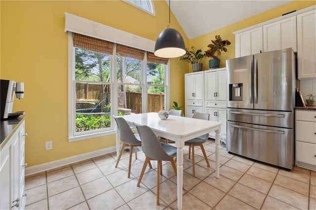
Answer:
M0 150L0 210L24 210L25 136L23 120Z

